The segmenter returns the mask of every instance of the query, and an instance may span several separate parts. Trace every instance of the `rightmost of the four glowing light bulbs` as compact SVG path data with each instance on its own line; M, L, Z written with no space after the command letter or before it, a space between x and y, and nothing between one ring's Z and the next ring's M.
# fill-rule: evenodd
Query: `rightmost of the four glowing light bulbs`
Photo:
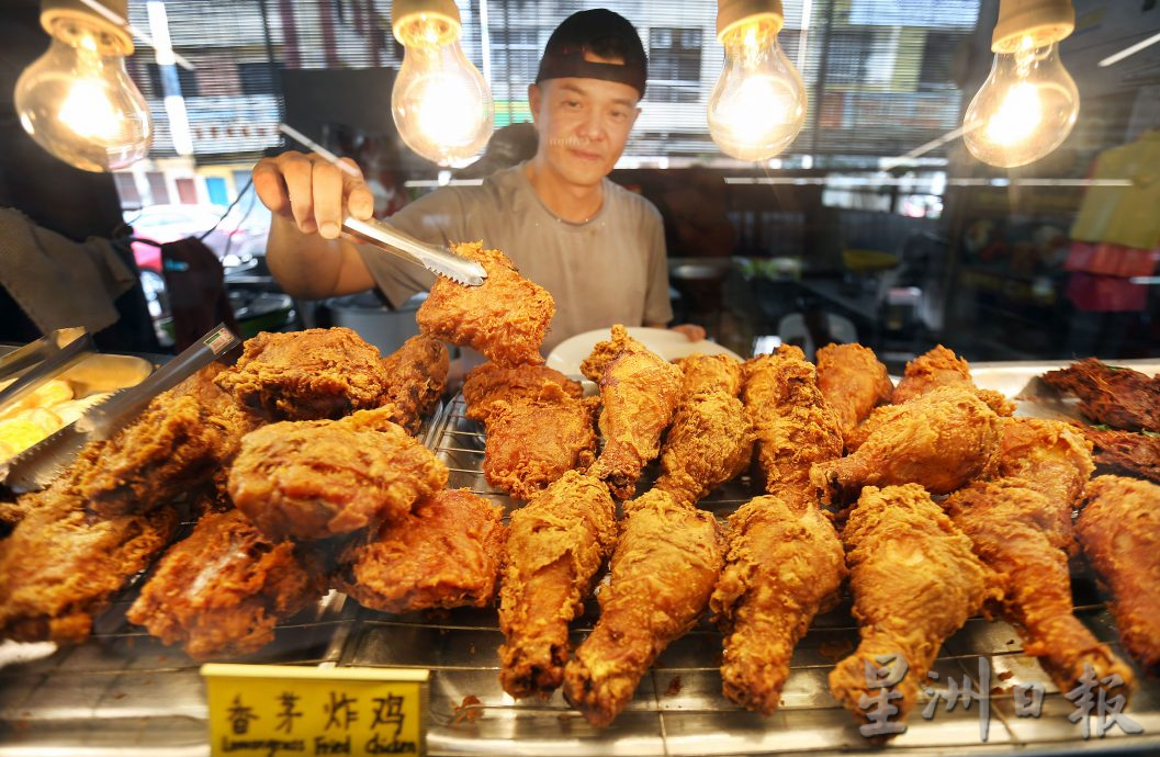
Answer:
M983 162L1012 168L1063 144L1080 111L1080 93L1059 44L1024 37L1000 52L963 118L963 141Z

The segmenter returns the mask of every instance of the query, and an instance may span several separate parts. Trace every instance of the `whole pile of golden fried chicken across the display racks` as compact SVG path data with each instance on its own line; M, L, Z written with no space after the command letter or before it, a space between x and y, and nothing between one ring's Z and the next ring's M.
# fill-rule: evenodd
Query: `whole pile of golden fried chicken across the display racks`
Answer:
M867 725L883 689L904 721L980 613L1060 689L1089 669L1130 689L1073 612L1082 553L1123 648L1160 672L1160 487L1093 479L1080 429L1015 417L951 350L896 386L858 344L668 362L615 326L586 385L541 357L546 292L498 250L462 253L487 282L438 282L397 352L341 328L262 334L3 509L0 638L79 642L135 582L129 620L195 660L256 652L329 589L389 613L496 604L503 690L561 690L606 727L705 618L724 696L771 714L795 647L848 596L861 641L828 683ZM445 388L441 339L491 358L463 386L491 490L448 489L415 437ZM738 479L752 498L718 519L710 497Z

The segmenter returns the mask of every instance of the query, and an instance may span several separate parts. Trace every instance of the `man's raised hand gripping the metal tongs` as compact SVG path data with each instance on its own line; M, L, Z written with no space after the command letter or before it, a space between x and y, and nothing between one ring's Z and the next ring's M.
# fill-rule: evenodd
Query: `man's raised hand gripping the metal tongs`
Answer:
M358 166L349 158L342 162L354 170L295 151L263 158L254 166L254 191L270 212L292 220L303 234L338 239L343 208L361 220L375 212L375 198Z

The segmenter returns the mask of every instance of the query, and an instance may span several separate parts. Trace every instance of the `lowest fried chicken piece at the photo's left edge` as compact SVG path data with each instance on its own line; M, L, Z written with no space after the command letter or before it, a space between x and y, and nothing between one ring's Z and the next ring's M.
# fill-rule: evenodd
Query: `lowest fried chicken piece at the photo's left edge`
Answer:
M35 505L0 541L0 639L80 643L110 597L168 544L177 512L94 515L67 475L29 497Z

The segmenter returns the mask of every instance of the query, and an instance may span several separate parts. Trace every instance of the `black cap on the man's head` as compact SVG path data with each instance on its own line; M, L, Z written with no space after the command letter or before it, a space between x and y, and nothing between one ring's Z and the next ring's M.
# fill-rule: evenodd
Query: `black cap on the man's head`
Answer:
M624 63L585 60L585 52L600 58L621 58ZM536 83L565 77L617 81L633 87L644 99L648 58L640 35L628 19L604 8L573 13L549 37Z

